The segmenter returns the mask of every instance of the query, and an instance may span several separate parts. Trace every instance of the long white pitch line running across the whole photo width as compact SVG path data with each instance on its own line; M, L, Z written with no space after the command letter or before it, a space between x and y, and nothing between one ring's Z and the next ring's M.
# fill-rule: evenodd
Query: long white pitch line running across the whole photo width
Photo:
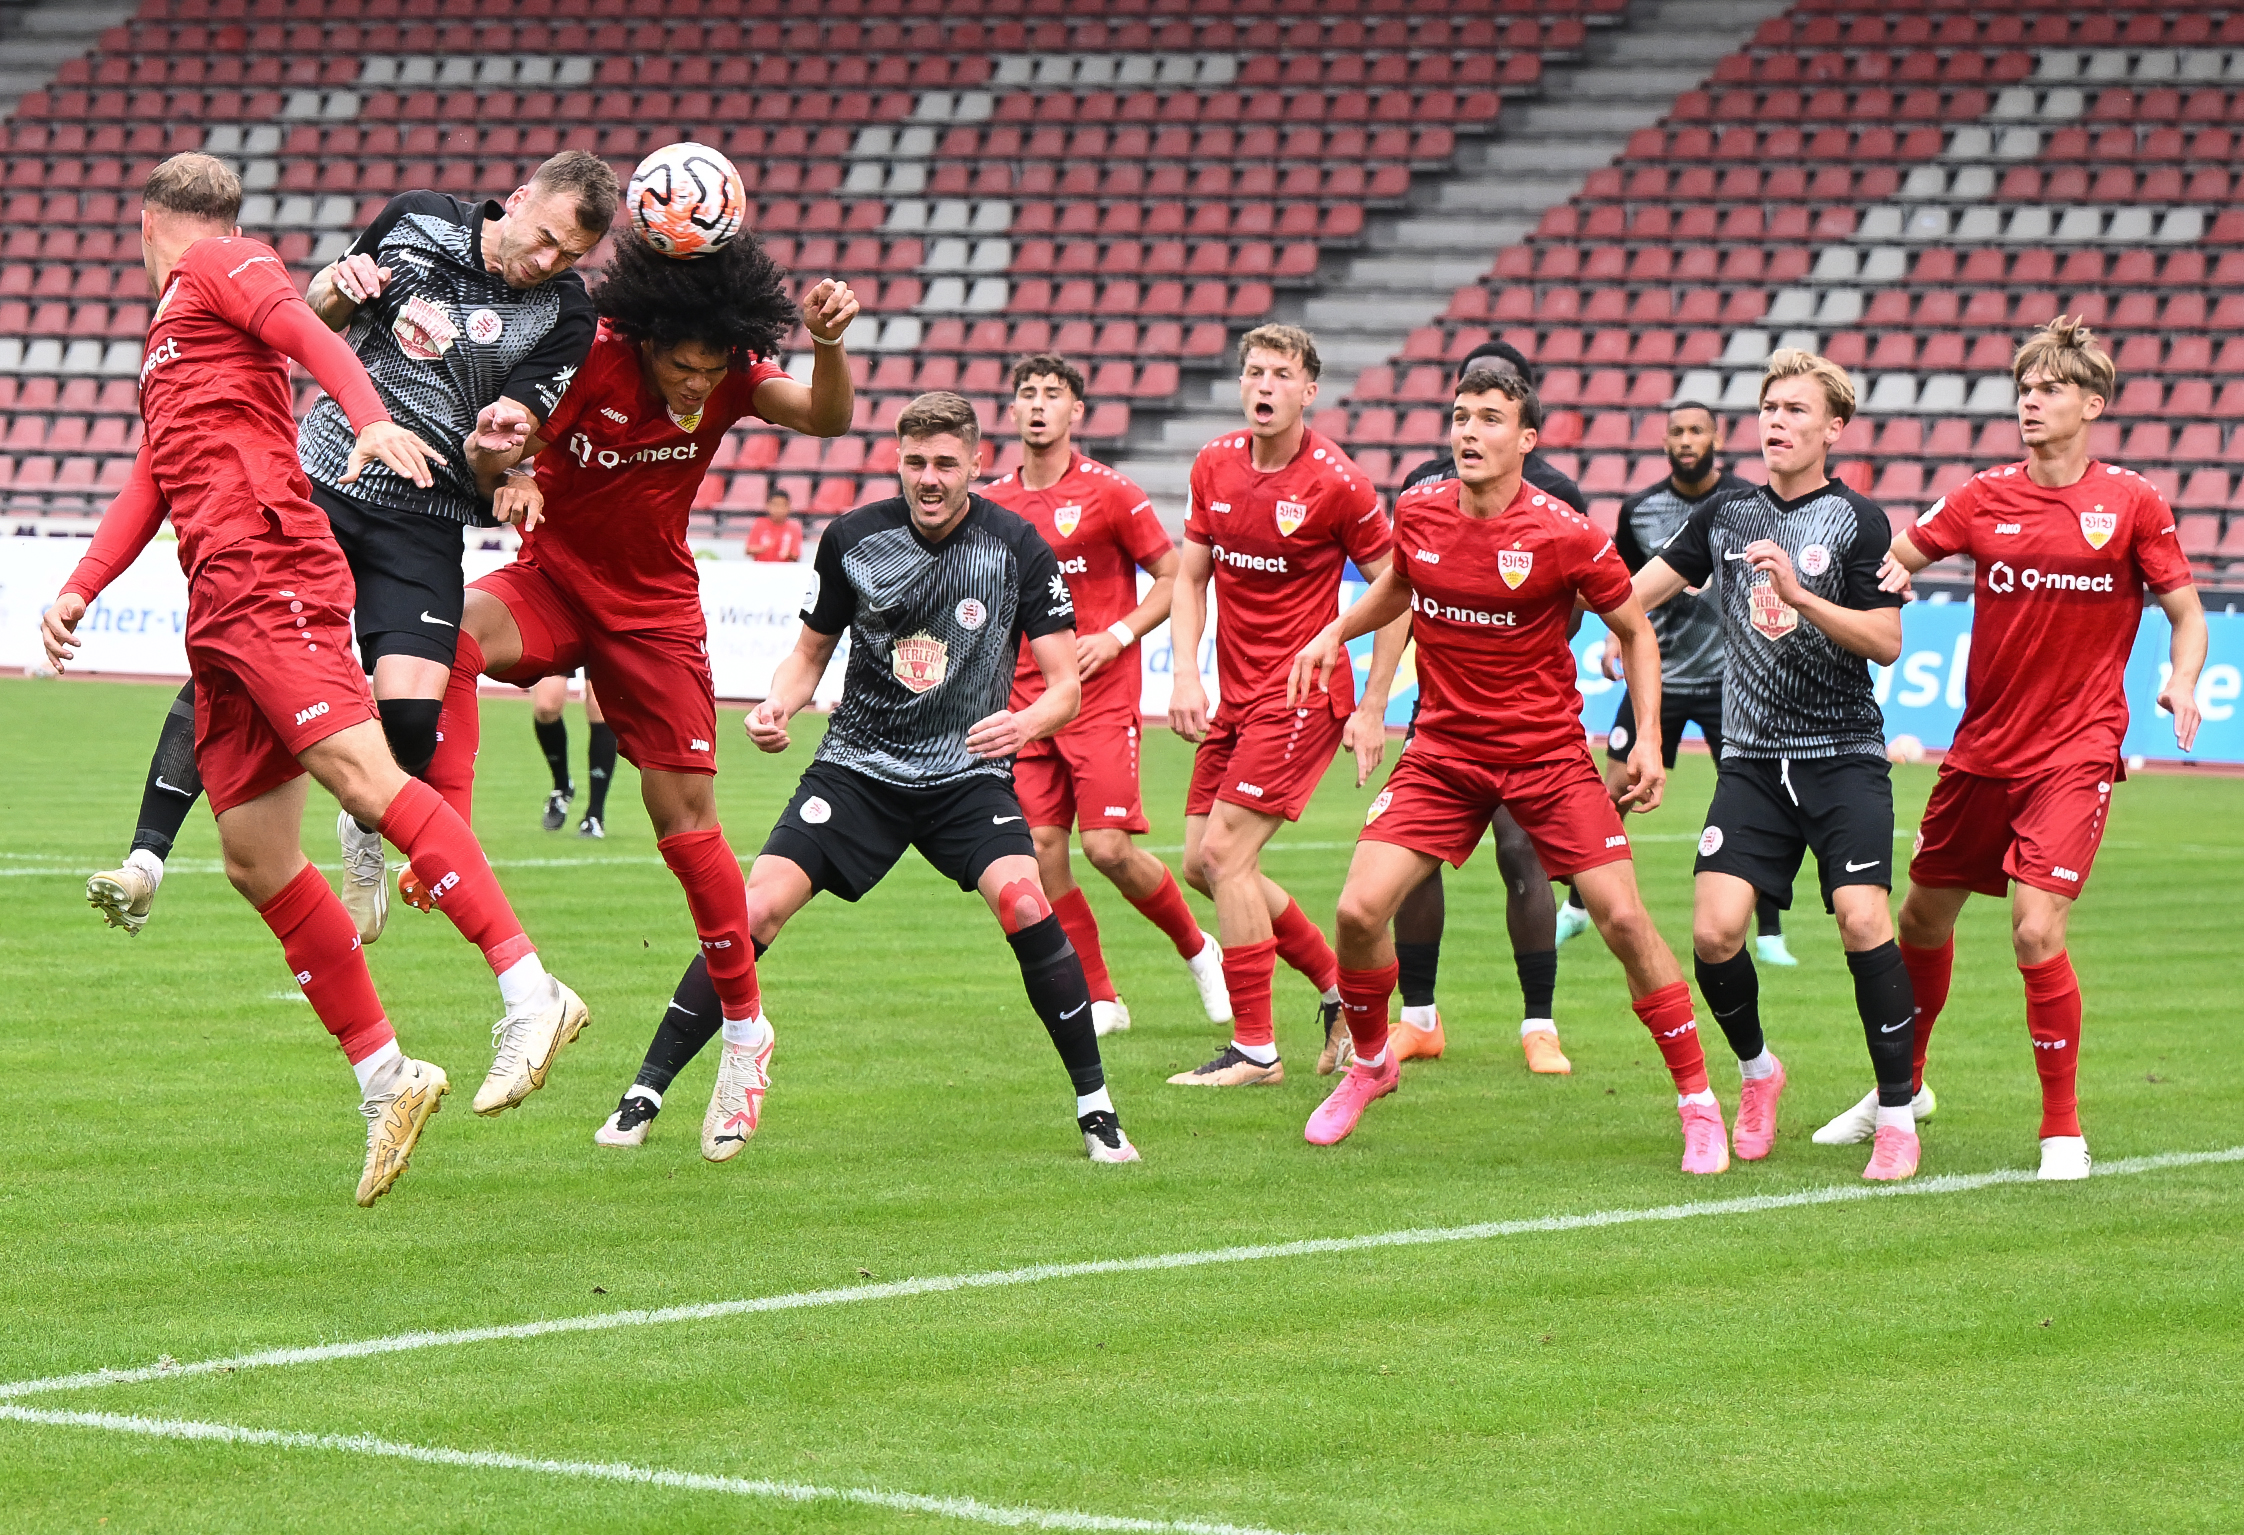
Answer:
M2165 1167L2199 1167L2206 1162L2244 1162L2244 1147L2226 1151L2165 1151L2161 1156L2130 1156L2094 1167L2096 1178L2118 1178L2125 1174L2159 1171ZM236 1353L222 1360L193 1360L188 1364L159 1362L139 1369L90 1369L76 1376L47 1376L43 1380L16 1380L0 1385L0 1403L18 1396L45 1391L83 1391L88 1387L141 1385L146 1380L184 1380L186 1376L231 1373L238 1369L265 1369L272 1364L321 1364L325 1360L364 1360L375 1353L408 1353L415 1349L444 1349L453 1344L498 1342L507 1338L548 1338L552 1333L606 1333L619 1326L660 1326L669 1322L709 1322L716 1317L741 1317L763 1311L808 1311L812 1306L853 1306L862 1302L904 1299L911 1295L947 1295L951 1290L992 1290L1014 1284L1043 1284L1048 1279L1084 1279L1091 1275L1140 1275L1167 1268L1207 1268L1214 1263L1252 1263L1259 1259L1322 1257L1326 1252L1364 1252L1371 1248L1420 1248L1447 1241L1490 1241L1497 1237L1528 1237L1539 1232L1584 1232L1604 1225L1640 1225L1647 1221L1694 1221L1701 1216L1762 1214L1766 1210L1797 1210L1802 1205L1847 1205L1867 1198L1907 1198L1914 1194L1968 1194L2006 1183L2033 1183L2035 1174L2024 1167L2002 1167L1984 1174L1943 1174L1934 1178L1912 1178L1910 1183L1833 1183L1827 1187L1797 1189L1793 1194L1748 1194L1744 1198L1708 1198L1690 1205L1652 1205L1640 1210L1593 1210L1571 1216L1535 1216L1526 1221L1481 1221L1477 1225L1436 1225L1400 1232L1371 1232L1367 1237L1310 1237L1306 1241L1279 1241L1254 1248L1203 1248L1196 1252L1153 1252L1131 1259L1095 1259L1084 1263L1034 1263L1030 1268L999 1268L981 1275L938 1275L931 1279L893 1279L886 1284L853 1284L835 1290L797 1290L792 1295L758 1295L752 1299L705 1302L698 1306L662 1306L660 1311L599 1311L581 1317L552 1317L545 1322L514 1322L505 1326L462 1326L447 1333L393 1333L390 1338L361 1338L357 1342L316 1344L307 1349L263 1349L258 1353Z

